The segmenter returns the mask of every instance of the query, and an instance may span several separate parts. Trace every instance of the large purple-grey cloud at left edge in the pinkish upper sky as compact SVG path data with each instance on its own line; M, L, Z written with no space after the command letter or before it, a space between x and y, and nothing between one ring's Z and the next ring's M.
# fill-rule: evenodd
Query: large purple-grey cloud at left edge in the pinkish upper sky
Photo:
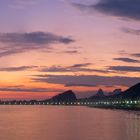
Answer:
M49 50L53 44L70 44L74 40L53 33L1 33L0 57L27 52L31 50Z

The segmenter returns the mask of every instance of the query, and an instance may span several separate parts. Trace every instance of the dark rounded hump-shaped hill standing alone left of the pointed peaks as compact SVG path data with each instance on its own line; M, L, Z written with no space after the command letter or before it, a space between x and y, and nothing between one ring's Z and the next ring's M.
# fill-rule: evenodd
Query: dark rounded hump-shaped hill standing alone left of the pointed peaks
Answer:
M61 94L53 96L50 99L50 101L55 101L55 102L75 101L75 100L77 100L77 98L72 90L68 90L68 91L63 92Z

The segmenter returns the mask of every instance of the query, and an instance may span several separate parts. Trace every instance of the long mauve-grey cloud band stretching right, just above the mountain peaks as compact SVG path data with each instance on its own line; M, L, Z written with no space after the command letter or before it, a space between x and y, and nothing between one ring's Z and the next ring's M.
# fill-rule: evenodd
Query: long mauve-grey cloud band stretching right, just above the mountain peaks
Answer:
M68 85L103 86L131 86L140 81L139 77L97 76L97 75L36 75L32 79L36 82L47 82Z

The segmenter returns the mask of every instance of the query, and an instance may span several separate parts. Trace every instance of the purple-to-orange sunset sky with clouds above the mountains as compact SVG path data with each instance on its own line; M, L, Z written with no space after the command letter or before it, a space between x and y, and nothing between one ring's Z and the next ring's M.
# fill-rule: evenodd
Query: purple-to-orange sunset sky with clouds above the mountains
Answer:
M140 0L1 0L0 21L2 100L140 82Z

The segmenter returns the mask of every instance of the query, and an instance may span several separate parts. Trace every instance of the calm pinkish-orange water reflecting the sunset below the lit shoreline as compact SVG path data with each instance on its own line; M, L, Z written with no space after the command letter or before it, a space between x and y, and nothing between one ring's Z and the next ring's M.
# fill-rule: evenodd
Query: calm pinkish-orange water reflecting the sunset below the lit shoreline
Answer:
M140 140L139 112L0 106L0 140Z

